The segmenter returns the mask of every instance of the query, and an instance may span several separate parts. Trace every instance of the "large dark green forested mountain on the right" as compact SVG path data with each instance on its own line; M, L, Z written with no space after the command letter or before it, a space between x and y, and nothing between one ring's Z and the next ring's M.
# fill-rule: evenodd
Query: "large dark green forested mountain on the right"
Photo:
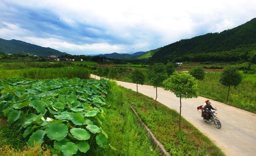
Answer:
M247 61L256 54L256 18L241 26L180 40L160 48L154 62Z

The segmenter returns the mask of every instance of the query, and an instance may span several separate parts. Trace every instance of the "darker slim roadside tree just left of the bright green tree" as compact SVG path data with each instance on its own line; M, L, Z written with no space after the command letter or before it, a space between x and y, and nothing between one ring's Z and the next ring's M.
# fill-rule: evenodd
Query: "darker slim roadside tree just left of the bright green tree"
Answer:
M160 87L163 80L167 78L166 68L163 63L156 63L148 70L148 80L156 88L155 107L157 109L157 87Z

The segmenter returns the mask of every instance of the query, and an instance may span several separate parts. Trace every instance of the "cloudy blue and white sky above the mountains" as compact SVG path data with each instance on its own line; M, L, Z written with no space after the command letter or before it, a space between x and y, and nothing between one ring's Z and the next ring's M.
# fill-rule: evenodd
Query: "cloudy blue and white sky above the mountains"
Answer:
M255 17L256 0L1 0L0 38L77 55L134 53Z

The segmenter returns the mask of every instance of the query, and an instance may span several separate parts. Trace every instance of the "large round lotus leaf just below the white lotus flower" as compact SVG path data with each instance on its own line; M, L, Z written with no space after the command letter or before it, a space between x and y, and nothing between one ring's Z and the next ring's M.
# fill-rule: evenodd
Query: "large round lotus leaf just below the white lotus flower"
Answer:
M67 136L68 129L65 124L49 123L46 128L47 136L52 140L60 141Z

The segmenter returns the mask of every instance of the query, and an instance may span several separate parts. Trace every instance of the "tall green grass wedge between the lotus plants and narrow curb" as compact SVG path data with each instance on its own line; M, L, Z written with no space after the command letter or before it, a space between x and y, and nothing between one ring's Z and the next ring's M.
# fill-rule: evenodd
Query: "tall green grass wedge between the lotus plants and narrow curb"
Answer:
M128 106L127 96L118 85L112 85L108 95L108 113L102 128L108 134L110 146L95 147L88 155L98 156L158 156L158 148L154 148L145 130L140 126L136 116Z

